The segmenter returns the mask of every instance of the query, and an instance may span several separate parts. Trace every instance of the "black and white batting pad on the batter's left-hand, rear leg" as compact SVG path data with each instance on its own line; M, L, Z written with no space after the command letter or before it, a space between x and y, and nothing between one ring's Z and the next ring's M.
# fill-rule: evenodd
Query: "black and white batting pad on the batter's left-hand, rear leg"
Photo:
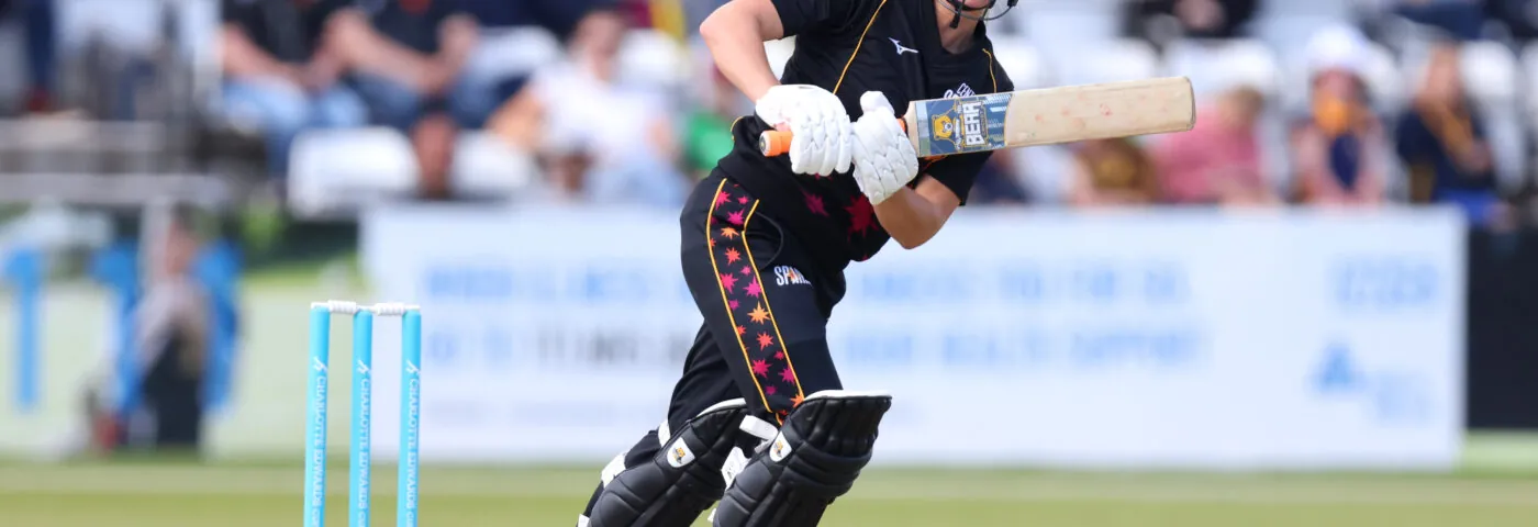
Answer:
M721 466L737 446L746 413L743 399L715 404L689 419L681 430L660 427L661 450L652 459L624 467L623 455L603 473L588 527L687 527L721 499Z

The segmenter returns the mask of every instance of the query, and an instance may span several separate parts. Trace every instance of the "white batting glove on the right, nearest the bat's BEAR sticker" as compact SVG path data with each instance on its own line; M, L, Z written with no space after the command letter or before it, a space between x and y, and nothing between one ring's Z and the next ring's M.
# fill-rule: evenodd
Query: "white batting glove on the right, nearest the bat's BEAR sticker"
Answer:
M886 201L918 175L918 154L907 132L897 124L897 112L881 92L860 95L864 115L854 124L855 183L871 204Z

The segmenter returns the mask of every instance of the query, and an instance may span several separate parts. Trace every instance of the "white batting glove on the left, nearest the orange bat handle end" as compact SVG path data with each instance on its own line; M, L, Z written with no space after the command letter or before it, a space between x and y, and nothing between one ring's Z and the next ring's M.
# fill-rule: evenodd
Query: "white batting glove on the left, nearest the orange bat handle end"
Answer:
M791 171L829 175L849 171L849 112L838 95L812 85L769 88L754 106L769 126L791 126Z

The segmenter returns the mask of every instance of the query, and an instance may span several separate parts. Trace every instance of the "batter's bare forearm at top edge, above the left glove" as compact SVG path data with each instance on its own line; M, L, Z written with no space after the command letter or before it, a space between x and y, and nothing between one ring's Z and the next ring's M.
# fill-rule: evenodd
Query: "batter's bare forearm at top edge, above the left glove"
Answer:
M769 68L764 41L783 34L778 14L767 0L729 2L700 25L700 37L711 48L715 68L749 100L758 100L780 85Z

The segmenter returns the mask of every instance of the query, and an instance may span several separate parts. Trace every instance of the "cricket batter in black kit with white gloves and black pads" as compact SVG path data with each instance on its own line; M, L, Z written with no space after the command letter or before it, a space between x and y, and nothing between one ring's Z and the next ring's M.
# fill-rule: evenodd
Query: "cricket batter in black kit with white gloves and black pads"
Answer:
M895 109L1014 91L984 32L994 2L732 0L700 26L755 101L680 218L704 327L667 419L604 467L578 527L686 527L717 501L718 527L812 527L849 492L892 403L843 389L827 320L844 267L929 241L987 160L917 158ZM775 78L763 43L789 35ZM758 152L769 129L794 132L789 155Z

